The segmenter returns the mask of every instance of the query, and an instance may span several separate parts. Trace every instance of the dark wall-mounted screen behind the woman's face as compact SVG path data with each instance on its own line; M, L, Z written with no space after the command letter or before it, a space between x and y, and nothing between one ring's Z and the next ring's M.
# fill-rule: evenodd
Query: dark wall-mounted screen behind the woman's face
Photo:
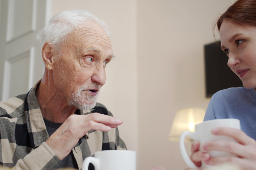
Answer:
M240 78L229 68L228 60L220 45L205 45L206 97L223 89L243 86Z

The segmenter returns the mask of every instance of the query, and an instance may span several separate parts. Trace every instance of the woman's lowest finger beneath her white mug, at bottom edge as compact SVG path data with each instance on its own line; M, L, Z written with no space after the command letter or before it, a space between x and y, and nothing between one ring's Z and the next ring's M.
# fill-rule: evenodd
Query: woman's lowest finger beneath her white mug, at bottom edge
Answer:
M256 169L256 162L248 159L238 158L238 157L212 157L209 161L205 162L207 165L217 165L221 163L234 163L239 167L247 170L254 170Z

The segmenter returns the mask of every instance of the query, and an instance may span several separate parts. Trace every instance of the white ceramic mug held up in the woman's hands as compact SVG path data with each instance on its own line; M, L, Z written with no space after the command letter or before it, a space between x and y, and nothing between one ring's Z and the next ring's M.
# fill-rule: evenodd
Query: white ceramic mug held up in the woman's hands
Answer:
M233 139L229 136L213 135L211 133L211 130L216 127L231 127L231 128L235 128L235 129L241 129L240 120L238 120L238 119L215 119L215 120L207 120L202 123L196 124L195 132L185 131L180 135L180 140L179 140L180 153L181 153L183 160L190 168L198 168L198 167L190 160L190 158L187 154L187 151L185 149L184 140L185 140L186 136L190 136L195 141L199 141L199 143L200 143L199 150L210 153L211 157L235 156L229 152L217 151L217 150L205 151L201 148L204 143L209 142L209 141L221 140L221 141L237 142L235 139ZM209 165L205 165L202 162L201 167L208 167L208 166Z

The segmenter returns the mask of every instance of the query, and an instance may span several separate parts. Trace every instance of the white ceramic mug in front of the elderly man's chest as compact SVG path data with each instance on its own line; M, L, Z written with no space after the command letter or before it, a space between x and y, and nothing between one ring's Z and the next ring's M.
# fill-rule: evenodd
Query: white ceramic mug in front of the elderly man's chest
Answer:
M132 150L97 151L94 157L84 159L82 170L92 163L95 170L136 170L136 152Z

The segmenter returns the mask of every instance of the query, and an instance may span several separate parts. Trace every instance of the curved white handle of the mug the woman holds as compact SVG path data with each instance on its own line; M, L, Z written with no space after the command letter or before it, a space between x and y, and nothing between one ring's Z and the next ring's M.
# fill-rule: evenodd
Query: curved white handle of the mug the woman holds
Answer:
M180 153L181 153L181 156L183 158L183 160L185 161L185 163L190 167L190 168L199 168L197 167L192 161L191 159L189 158L189 155L186 151L186 148L185 148L185 138L186 136L190 136L192 139L196 140L196 136L195 136L195 133L194 132L191 132L191 131L184 131L181 135L180 135L180 138L179 138L179 148L180 148Z

